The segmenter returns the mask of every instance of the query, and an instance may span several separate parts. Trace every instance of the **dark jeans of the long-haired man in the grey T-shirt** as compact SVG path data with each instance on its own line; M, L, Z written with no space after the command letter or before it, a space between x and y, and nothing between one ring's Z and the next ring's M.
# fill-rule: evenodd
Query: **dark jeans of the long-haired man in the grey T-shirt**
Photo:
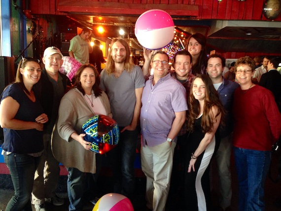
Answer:
M119 127L121 131L123 127ZM112 167L114 192L121 193L128 198L132 197L135 191L135 169L137 148L137 130L120 133L119 143L115 148L106 153Z

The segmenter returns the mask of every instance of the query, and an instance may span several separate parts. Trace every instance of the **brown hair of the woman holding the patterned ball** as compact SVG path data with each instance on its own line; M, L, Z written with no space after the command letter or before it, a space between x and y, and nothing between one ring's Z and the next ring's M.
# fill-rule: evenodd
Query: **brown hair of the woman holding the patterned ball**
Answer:
M92 70L94 70L96 82L93 85L92 90L94 91L95 96L99 97L102 94L102 89L100 88L101 79L100 79L100 75L99 75L97 69L92 65L82 65L77 70L77 72L75 74L75 82L74 82L73 88L77 88L83 95L85 95L85 91L81 85L80 78L81 78L81 74L82 74L83 70L85 70L86 68L91 68Z

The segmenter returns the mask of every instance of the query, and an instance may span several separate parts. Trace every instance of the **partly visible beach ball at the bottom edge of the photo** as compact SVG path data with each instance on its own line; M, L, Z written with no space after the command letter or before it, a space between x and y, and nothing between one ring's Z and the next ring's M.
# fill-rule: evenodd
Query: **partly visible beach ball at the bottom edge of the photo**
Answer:
M126 196L108 193L99 199L93 211L134 211L134 208Z

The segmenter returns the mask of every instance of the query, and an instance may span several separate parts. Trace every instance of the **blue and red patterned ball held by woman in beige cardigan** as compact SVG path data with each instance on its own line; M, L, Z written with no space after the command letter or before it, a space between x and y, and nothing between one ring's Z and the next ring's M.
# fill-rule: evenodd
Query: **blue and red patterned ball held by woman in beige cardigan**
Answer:
M119 128L115 120L105 115L96 115L82 126L85 141L92 143L91 150L104 154L113 149L119 141Z

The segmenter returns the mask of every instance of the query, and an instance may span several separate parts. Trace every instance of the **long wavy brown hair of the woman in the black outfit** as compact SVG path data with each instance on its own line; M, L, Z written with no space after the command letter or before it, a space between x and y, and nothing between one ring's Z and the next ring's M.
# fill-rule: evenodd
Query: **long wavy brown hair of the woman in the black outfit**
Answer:
M213 87L212 81L208 75L203 75L203 74L197 75L192 81L191 90L196 78L202 79L203 83L205 84L205 91L206 91L205 105L203 108L203 115L201 121L202 132L210 133L212 132L212 128L213 128L213 123L214 123L213 119L215 119L219 114L221 114L220 122L222 123L223 117L225 115L225 111L221 101L219 100L218 93ZM213 116L211 111L213 106L217 106L218 112L215 116ZM188 122L187 126L188 126L188 130L190 132L193 132L195 120L196 118L198 118L198 115L200 114L200 105L199 105L199 101L194 98L192 91L190 91L189 94L188 109L189 109L189 113L187 117L187 122Z

